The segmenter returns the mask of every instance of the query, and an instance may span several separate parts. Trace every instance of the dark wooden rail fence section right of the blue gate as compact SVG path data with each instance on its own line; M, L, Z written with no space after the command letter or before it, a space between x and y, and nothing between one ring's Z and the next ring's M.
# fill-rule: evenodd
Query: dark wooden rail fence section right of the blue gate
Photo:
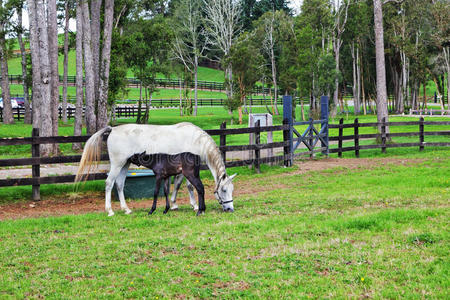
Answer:
M344 119L339 120L339 124L329 124L329 129L337 129L337 136L330 136L329 140L337 142L337 148L332 148L330 146L330 153L338 153L339 157L342 157L342 152L346 151L355 151L355 156L359 157L359 150L364 149L381 149L384 153L386 152L386 148L399 148L399 147L419 147L419 150L422 151L424 147L434 146L450 146L450 142L442 143L442 142L425 142L425 136L450 136L450 127L448 130L443 131L425 131L425 126L436 126L436 125L450 125L450 121L424 121L423 118L420 118L419 121L408 121L408 122L381 122L381 123L359 123L358 119L351 124L344 124ZM362 127L380 127L380 133L372 133L372 134L359 134L359 128ZM414 126L417 128L416 132L395 132L395 133L387 133L386 127L390 128L395 126ZM352 135L344 136L344 128L353 128ZM388 143L388 141L392 140L394 137L412 137L417 136L418 141L415 143ZM360 145L360 140L362 139L377 139L380 143L373 145ZM343 147L343 141L353 141L353 146Z

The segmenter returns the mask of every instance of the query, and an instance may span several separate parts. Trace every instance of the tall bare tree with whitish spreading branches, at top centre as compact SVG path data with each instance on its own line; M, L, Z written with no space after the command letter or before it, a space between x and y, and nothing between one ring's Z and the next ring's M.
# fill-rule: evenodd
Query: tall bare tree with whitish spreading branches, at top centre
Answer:
M241 4L237 0L203 0L205 12L205 28L211 44L220 53L215 57L216 61L227 57L233 43L241 30L239 18L241 16ZM228 62L224 66L227 98L233 96L233 66Z

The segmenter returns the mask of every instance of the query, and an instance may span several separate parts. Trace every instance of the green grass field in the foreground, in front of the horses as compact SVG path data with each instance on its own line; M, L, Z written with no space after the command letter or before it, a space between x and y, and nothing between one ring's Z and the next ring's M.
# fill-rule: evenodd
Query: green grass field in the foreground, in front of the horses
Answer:
M443 299L449 154L241 172L232 214L3 221L0 298Z

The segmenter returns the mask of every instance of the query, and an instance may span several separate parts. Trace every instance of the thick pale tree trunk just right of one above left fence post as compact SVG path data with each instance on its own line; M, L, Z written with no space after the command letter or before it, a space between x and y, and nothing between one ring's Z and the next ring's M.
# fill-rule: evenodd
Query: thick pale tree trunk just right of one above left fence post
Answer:
M58 135L58 113L59 113L59 74L58 74L58 20L56 15L56 0L47 0L47 24L48 24L48 46L50 60L50 106L52 118L52 135ZM52 153L59 152L59 145L50 145Z

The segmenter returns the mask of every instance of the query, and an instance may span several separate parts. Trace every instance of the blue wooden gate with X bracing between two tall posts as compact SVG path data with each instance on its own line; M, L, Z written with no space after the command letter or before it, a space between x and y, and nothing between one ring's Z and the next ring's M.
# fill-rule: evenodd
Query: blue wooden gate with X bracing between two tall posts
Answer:
M288 136L289 146L285 148L286 166L292 165L294 157L301 155L314 156L314 153L321 152L328 155L328 97L320 98L320 120L296 122L292 116L292 96L283 96L283 123L289 125ZM307 125L306 130L301 134L294 126ZM320 125L320 127L319 127ZM320 147L318 143L320 141ZM307 151L295 152L301 145L306 146Z

